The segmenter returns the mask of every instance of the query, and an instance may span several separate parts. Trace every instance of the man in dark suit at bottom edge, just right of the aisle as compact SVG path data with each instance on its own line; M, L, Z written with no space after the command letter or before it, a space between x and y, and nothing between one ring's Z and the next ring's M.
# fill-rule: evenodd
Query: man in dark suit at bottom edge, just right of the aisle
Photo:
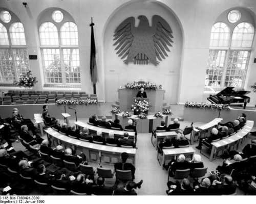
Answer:
M166 193L168 195L194 195L194 190L190 186L190 182L188 179L183 179L181 184L177 180L176 183L168 182L167 183L168 189Z

